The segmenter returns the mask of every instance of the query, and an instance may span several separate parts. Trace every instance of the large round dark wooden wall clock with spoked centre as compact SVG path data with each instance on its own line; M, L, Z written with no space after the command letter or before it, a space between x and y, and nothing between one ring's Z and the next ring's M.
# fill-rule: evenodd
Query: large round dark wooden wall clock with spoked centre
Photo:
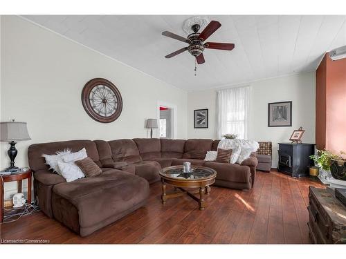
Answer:
M115 121L122 111L122 98L118 88L104 78L94 78L85 84L82 104L90 117L103 123Z

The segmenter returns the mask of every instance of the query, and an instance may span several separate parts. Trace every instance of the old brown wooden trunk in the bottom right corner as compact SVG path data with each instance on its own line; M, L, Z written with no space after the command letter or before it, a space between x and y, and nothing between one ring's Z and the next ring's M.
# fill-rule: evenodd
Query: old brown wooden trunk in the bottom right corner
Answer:
M332 189L309 187L309 237L314 244L346 244L346 207Z

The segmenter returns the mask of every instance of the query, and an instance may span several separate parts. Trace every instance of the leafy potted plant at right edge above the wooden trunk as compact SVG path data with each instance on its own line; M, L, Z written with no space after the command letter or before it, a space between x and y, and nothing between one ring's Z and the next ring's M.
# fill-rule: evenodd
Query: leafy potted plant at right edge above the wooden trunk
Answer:
M317 151L316 155L311 155L310 158L320 167L324 180L328 180L332 175L335 179L346 180L346 159L345 152L340 152L340 155L335 155L331 151ZM331 175L330 175L331 174Z

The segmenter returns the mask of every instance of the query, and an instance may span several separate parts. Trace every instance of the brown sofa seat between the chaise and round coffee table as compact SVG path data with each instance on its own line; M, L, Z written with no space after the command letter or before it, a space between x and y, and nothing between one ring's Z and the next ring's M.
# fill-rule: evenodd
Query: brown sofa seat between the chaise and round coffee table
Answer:
M147 180L149 184L160 180L161 166L158 162L142 161L134 164L134 166L136 166L136 175Z

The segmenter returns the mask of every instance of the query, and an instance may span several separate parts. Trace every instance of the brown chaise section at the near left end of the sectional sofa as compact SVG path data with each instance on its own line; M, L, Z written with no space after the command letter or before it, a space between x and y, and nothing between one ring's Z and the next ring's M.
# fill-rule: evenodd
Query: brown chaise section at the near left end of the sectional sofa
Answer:
M149 195L148 182L131 173L102 168L101 175L66 182L48 170L42 154L53 155L66 148L86 148L91 159L101 166L98 148L91 140L71 140L33 144L28 161L34 171L35 197L40 209L71 230L86 236L143 206Z

